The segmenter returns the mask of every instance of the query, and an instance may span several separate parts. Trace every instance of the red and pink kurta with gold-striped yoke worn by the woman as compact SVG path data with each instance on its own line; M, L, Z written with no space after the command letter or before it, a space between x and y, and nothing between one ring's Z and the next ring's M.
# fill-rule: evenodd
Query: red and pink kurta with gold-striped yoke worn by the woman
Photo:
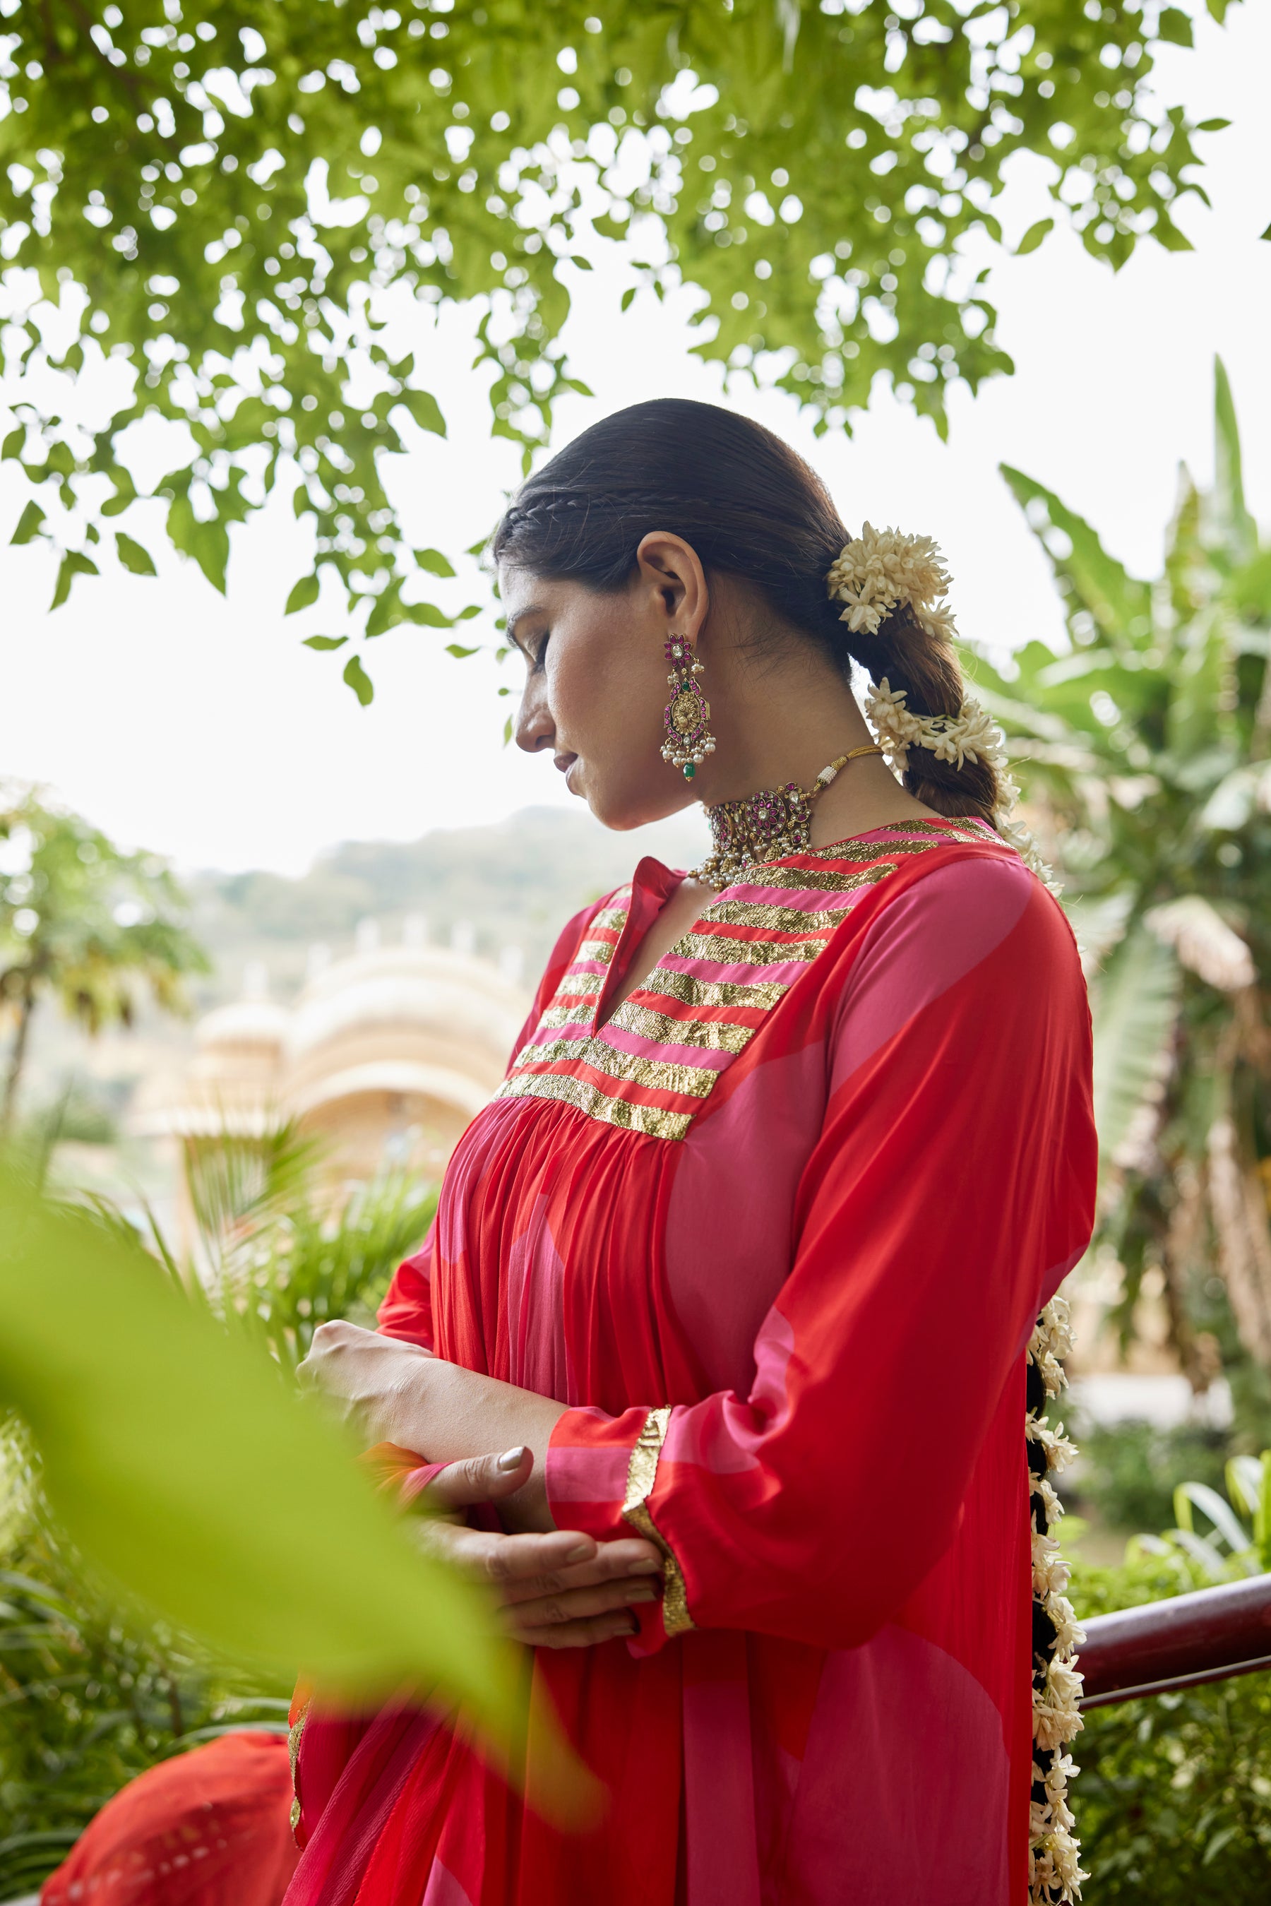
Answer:
M558 1527L650 1534L640 1633L537 1653L610 1794L543 1824L436 1717L311 1723L292 1906L1019 1906L1023 1346L1086 1247L1067 923L974 821L562 934L381 1328L570 1405ZM423 1452L427 1456L427 1450Z

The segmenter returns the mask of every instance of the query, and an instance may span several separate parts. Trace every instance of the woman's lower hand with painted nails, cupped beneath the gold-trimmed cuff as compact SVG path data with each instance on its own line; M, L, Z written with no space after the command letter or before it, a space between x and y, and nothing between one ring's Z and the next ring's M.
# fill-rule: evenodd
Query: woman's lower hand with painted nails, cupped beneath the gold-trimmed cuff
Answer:
M513 1496L532 1466L528 1449L452 1462L419 1498L440 1511L415 1525L419 1542L494 1584L507 1632L528 1647L589 1649L633 1635L631 1609L661 1592L661 1559L652 1542L593 1542L570 1529L503 1536L465 1527L465 1510Z

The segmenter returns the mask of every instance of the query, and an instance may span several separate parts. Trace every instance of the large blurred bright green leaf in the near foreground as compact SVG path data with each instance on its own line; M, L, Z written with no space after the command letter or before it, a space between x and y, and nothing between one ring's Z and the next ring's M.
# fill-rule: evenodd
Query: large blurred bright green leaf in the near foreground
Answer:
M345 1433L141 1245L0 1172L0 1407L53 1513L130 1599L286 1687L461 1704L494 1742L518 1660L419 1553Z

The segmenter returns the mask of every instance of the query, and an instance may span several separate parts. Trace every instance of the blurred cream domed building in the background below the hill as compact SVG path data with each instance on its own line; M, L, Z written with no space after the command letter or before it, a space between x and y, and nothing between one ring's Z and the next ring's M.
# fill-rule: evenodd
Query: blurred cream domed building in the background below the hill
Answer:
M385 1163L438 1178L530 1010L514 970L410 928L406 943L379 947L364 923L347 959L314 947L292 1006L265 999L263 972L250 970L248 997L198 1022L183 1083L139 1109L133 1128L189 1146L293 1119L320 1140L337 1184Z

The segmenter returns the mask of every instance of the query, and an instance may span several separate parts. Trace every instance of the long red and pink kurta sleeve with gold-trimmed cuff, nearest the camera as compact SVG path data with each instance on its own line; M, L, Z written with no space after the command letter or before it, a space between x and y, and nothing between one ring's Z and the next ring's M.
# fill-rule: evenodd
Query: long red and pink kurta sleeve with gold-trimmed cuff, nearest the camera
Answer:
M1018 862L947 865L878 913L827 1069L749 1393L575 1409L553 1435L556 1523L663 1550L642 1649L690 1626L875 1633L953 1540L1037 1309L1090 1235L1084 987Z

